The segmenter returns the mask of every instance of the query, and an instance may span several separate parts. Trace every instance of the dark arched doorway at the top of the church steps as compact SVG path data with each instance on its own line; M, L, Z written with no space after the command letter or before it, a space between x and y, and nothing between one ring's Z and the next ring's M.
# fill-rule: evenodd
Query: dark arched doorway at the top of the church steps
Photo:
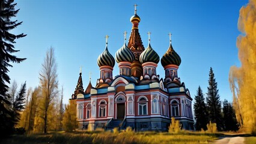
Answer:
M117 98L115 98L117 119L124 119L125 117L125 113L126 113L125 101L126 101L126 98L124 97L124 95L118 95Z

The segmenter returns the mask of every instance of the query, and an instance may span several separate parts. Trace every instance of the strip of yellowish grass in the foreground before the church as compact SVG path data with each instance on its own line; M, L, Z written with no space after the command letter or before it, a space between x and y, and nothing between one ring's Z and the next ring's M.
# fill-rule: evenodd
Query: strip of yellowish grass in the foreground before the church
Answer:
M179 133L157 133L132 130L111 133L110 131L76 131L74 133L14 135L2 143L210 143L219 134L181 131Z

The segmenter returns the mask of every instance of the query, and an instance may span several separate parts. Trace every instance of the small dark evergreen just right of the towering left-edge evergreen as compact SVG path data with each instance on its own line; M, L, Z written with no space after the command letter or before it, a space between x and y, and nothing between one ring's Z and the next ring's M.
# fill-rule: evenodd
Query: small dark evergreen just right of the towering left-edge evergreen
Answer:
M13 102L13 120L14 125L20 120L20 112L25 108L25 95L26 95L26 82L20 87L19 94L16 95L16 98Z

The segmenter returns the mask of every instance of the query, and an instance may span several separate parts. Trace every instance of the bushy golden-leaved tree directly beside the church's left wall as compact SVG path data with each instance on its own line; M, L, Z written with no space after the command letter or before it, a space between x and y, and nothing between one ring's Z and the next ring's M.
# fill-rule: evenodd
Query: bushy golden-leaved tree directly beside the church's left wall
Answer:
M63 117L63 128L65 131L73 131L78 128L78 121L76 121L76 101L69 100L69 104L66 106Z

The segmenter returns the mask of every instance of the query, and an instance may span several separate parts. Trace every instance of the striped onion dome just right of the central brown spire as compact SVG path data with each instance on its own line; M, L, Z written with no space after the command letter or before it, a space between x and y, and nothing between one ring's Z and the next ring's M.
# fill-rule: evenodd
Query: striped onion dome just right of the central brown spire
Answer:
M159 62L159 55L152 49L150 44L148 44L147 49L145 49L142 53L141 56L139 56L139 61L141 64L145 62L154 62L158 63Z

